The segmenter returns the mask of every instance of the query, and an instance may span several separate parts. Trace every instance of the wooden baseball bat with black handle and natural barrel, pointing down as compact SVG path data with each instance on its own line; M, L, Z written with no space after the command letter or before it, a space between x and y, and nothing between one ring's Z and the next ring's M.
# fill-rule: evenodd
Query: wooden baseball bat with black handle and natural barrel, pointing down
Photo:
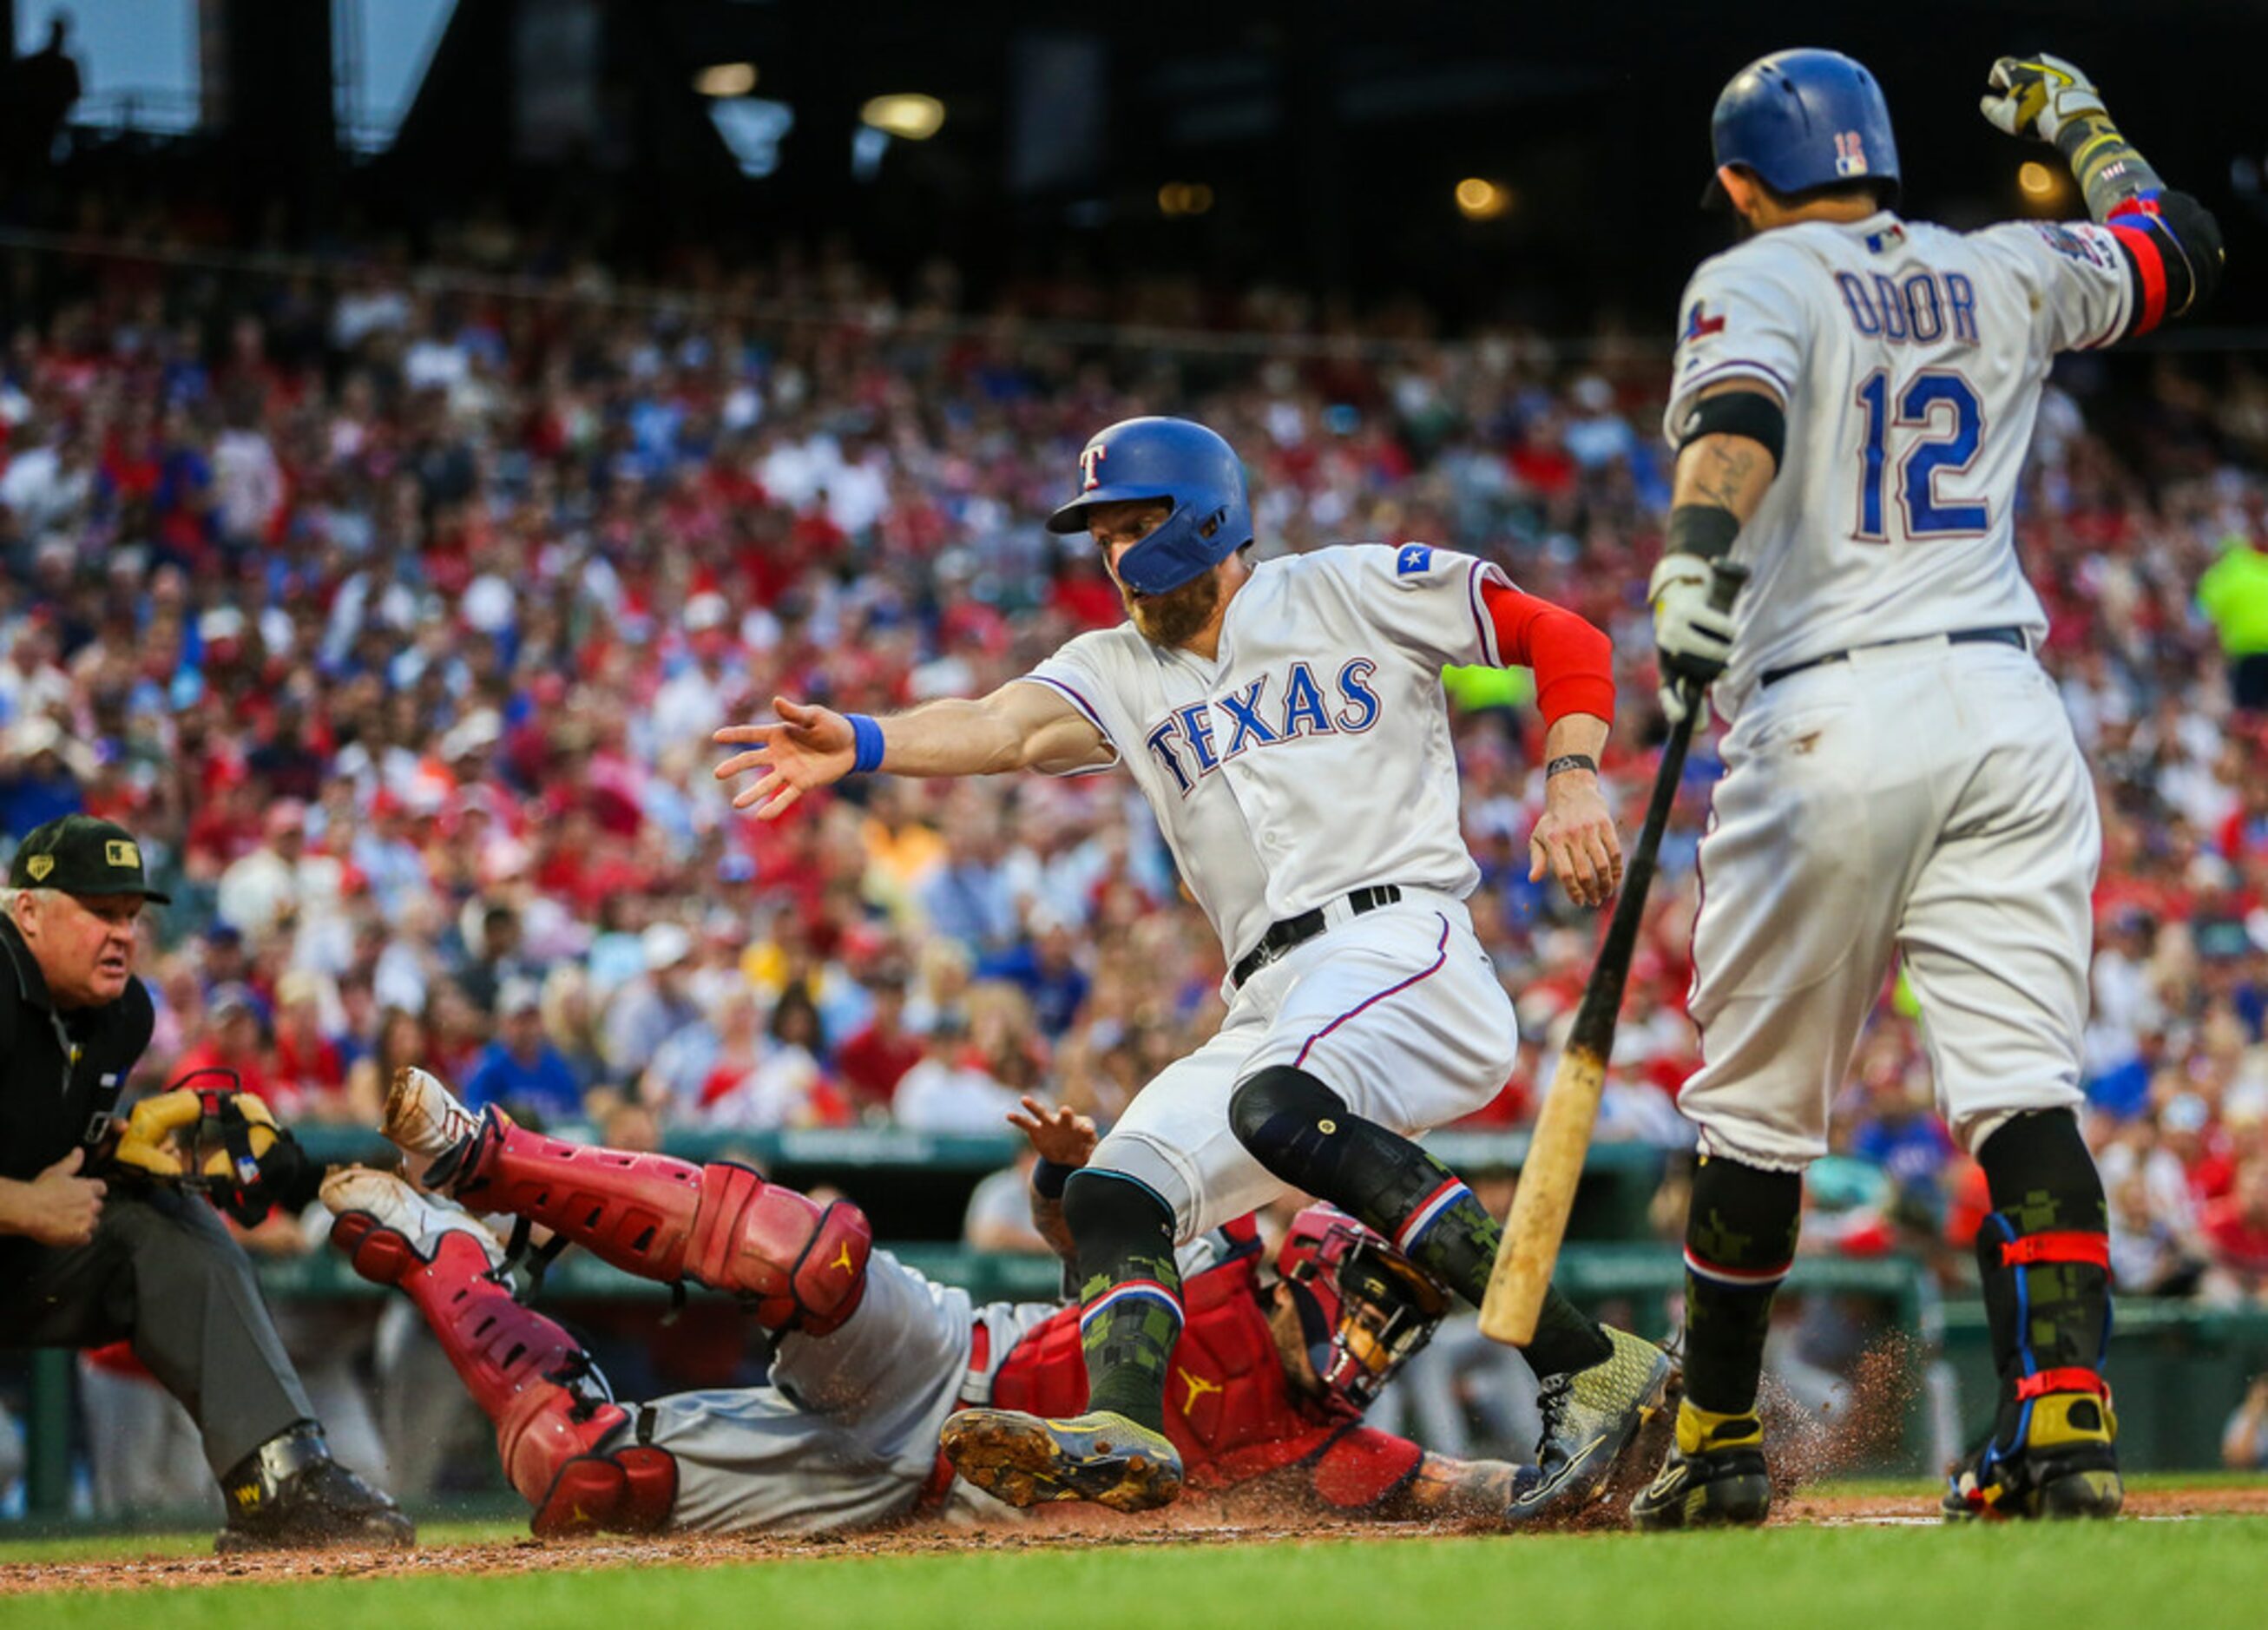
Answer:
M1710 605L1730 610L1733 596L1749 578L1746 567L1719 560L1710 571ZM1647 891L1653 886L1653 861L1669 825L1669 807L1685 775L1685 750L1701 719L1701 687L1685 685L1685 716L1669 725L1662 762L1653 771L1653 798L1647 803L1647 825L1622 873L1622 898L1606 925L1599 961L1583 986L1583 1004L1574 1013L1567 1050L1551 1072L1551 1093L1535 1118L1529 1158L1520 1165L1520 1188L1513 1192L1513 1215L1504 1224L1497 1265L1481 1299L1481 1333L1510 1347L1535 1340L1535 1317L1558 1265L1558 1247L1574 1211L1574 1188L1583 1179L1583 1156L1590 1154L1590 1129L1599 1120L1599 1093L1606 1088L1606 1061L1615 1052L1615 1025L1622 1018L1622 986L1631 977L1631 952L1637 948L1637 923L1647 914Z

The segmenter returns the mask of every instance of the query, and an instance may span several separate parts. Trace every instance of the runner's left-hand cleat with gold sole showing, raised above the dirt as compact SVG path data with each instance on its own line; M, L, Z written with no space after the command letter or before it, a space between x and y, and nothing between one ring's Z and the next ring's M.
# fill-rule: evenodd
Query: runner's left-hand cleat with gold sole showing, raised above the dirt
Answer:
M937 1442L957 1474L1009 1505L1093 1501L1148 1512L1182 1492L1182 1453L1166 1435L1109 1410L1066 1421L962 1410Z

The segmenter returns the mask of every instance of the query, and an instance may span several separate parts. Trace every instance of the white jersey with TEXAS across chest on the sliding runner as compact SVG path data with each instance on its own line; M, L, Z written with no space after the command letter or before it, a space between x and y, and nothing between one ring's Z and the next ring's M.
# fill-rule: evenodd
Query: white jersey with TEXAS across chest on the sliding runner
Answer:
M1481 601L1504 576L1429 544L1266 560L1213 662L1132 623L1080 635L1027 680L1118 753L1234 963L1270 923L1370 884L1465 898L1442 664L1501 662Z

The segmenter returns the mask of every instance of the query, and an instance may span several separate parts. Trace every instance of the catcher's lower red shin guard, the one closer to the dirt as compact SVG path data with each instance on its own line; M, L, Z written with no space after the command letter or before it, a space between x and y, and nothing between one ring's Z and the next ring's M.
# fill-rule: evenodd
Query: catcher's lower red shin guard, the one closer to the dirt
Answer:
M567 1331L488 1276L479 1240L445 1233L424 1258L395 1229L349 1211L331 1242L363 1279L399 1285L417 1304L472 1401L497 1424L503 1474L535 1508L538 1535L649 1533L669 1521L676 1460L646 1444L599 1451L628 1412L592 1387L590 1360Z

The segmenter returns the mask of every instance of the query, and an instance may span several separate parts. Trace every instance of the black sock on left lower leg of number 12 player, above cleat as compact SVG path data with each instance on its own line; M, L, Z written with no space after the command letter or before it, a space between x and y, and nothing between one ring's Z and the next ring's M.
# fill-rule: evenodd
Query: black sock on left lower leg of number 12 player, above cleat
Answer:
M1803 1179L1721 1156L1694 1170L1685 1213L1685 1399L1751 1415L1771 1297L1796 1260Z

